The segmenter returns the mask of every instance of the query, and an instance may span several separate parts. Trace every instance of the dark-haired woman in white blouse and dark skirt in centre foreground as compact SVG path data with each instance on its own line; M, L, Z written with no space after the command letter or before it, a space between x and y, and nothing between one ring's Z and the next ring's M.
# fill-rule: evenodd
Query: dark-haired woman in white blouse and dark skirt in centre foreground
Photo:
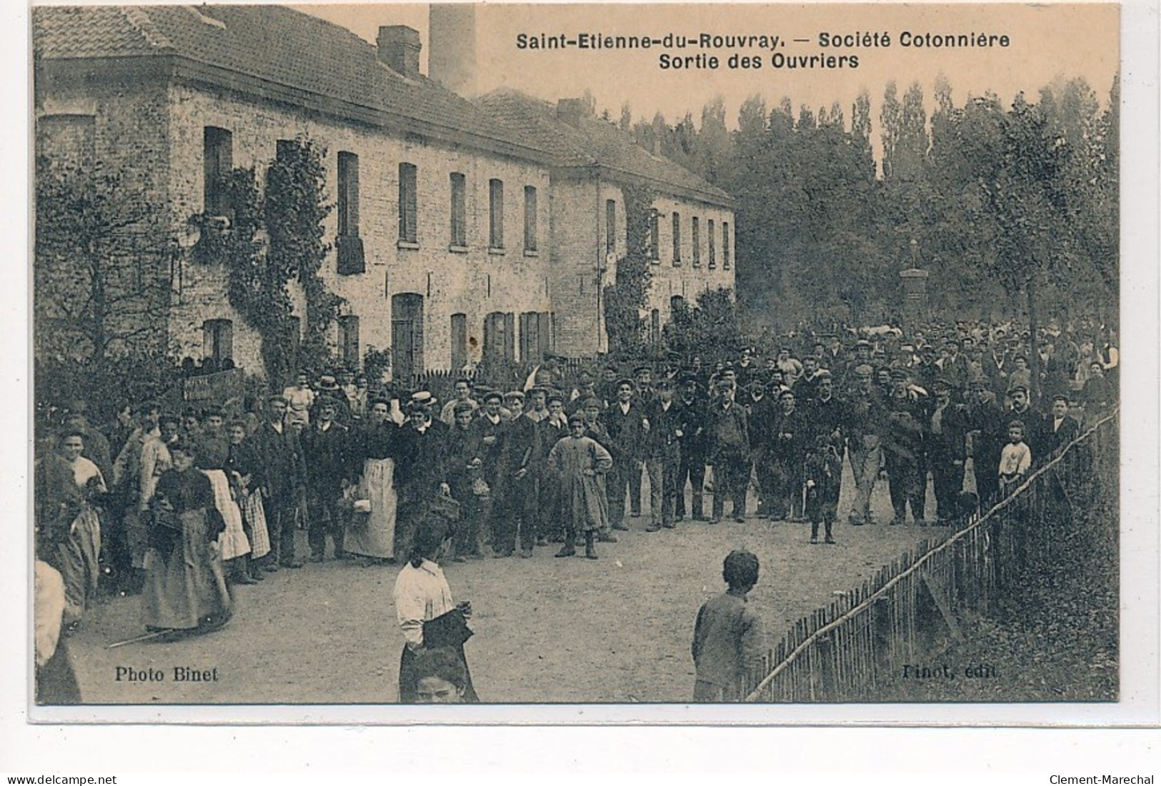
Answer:
M423 527L416 533L411 548L411 558L403 569L399 570L395 580L395 611L399 619L399 628L403 631L403 653L399 656L399 703L413 704L418 699L418 674L414 670L416 653L423 650L425 645L433 646L424 640L424 623L444 617L449 612L457 612L460 626L463 631L463 619L471 616L471 604L467 601L456 603L452 598L452 588L448 587L442 568L435 562L435 555L444 543L447 532L441 527ZM467 631L470 635L470 631ZM454 649L459 657L464 661L467 672L467 685L463 693L464 701L478 701L476 691L471 685L471 672L467 670L467 661L463 655L462 641L457 645L440 642Z

